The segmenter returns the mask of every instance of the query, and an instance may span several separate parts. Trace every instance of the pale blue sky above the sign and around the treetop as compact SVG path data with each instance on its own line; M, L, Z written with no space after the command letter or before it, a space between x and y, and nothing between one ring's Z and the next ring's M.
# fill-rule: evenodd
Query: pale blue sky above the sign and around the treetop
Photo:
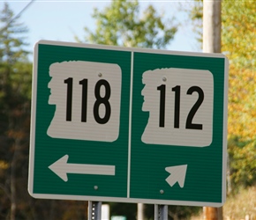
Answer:
M4 7L4 2L8 3L11 10L17 15L22 11L30 0L1 0L0 10ZM28 50L33 51L34 44L38 40L58 40L66 42L75 42L75 35L80 40L84 39L84 27L94 30L95 20L92 18L94 8L102 11L104 7L110 4L110 1L64 1L64 0L34 0L32 4L21 13L19 21L23 22L29 32L27 41ZM160 13L164 13L163 18L175 17L178 31L175 39L171 41L169 50L199 52L200 47L192 33L192 27L187 26L184 12L178 10L180 5L177 1L139 1L141 10L148 4L153 4L154 8Z

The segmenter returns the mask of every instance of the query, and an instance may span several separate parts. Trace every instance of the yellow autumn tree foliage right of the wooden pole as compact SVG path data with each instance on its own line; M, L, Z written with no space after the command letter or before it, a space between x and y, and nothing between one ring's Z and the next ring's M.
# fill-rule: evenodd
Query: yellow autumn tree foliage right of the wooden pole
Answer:
M222 51L230 59L230 174L235 186L245 187L256 182L255 12L252 1L222 3Z

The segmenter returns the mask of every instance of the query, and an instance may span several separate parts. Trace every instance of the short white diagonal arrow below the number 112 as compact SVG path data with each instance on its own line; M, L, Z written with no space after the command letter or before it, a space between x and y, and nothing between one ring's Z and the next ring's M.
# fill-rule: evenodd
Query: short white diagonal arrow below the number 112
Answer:
M170 173L169 177L166 179L170 187L172 187L176 182L178 182L179 187L184 187L186 168L187 165L165 167L165 170Z

